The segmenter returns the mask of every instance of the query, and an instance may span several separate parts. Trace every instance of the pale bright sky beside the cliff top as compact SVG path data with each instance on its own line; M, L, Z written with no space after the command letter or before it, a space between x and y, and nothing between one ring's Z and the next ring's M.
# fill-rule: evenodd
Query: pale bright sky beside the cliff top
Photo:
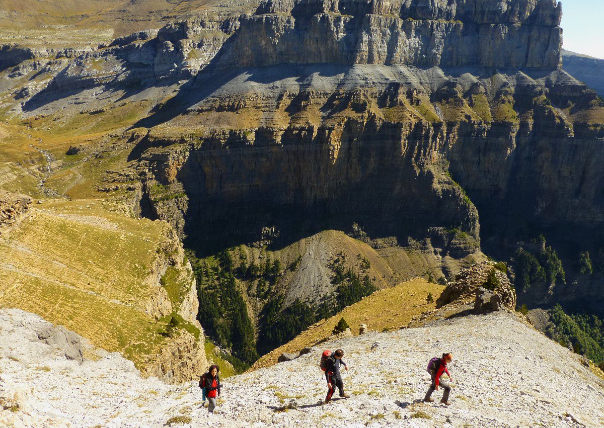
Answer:
M564 49L604 59L604 0L562 0Z

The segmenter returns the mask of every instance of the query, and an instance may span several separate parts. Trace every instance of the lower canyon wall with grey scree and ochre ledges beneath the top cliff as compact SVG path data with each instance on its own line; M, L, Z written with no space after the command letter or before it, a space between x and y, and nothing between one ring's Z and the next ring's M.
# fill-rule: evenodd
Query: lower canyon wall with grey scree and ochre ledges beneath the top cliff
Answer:
M249 243L262 231L287 236L294 228L353 233L356 223L369 237L399 243L434 236L432 246L452 257L476 249L472 203L491 235L517 230L519 219L561 230L604 220L604 200L582 186L603 178L595 165L604 107L562 71L270 70L262 69L267 81L256 77L260 69L234 73L202 100L195 94L209 81L183 89L178 103L190 107L137 145L140 174L152 179L146 189L165 188L160 197L147 190L146 215L206 242ZM167 104L166 114L176 106ZM571 170L585 174L556 180Z

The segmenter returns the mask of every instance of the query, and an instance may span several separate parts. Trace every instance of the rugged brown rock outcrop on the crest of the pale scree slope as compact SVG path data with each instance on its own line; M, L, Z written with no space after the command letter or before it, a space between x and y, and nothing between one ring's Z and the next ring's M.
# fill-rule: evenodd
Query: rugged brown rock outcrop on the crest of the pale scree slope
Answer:
M489 274L495 275L495 284L489 284L491 290L484 287ZM437 307L443 307L446 304L463 298L473 298L475 295L475 307L478 312L497 310L500 301L510 310L516 308L516 292L510 284L507 275L495 268L492 262L475 264L467 269L462 269L452 281L447 285L443 293L436 300ZM493 298L498 295L498 298Z

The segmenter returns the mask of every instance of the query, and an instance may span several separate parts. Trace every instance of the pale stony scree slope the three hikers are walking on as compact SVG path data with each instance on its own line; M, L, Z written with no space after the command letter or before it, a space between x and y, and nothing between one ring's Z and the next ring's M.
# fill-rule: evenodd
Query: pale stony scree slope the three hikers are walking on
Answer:
M179 415L191 418L185 424L191 427L604 423L604 382L575 354L504 311L324 343L293 361L223 380L219 407L210 416L199 408L194 383L141 379L117 354L77 365L37 339L34 329L43 323L23 311L0 311L0 397L18 406L2 410L0 424L161 427ZM323 348L343 348L350 367L344 383L352 398L328 406L318 404L326 392L317 366ZM455 357L451 407L420 402L428 386L426 363L443 351Z

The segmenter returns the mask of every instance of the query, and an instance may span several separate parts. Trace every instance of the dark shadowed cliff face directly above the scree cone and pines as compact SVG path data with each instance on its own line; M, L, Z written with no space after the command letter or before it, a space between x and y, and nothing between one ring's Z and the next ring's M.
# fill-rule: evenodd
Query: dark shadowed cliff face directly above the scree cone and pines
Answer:
M370 124L365 130L362 141L342 141L335 162L324 141L194 149L176 174L188 197L185 244L200 255L240 244L274 251L333 229L404 246L439 228L473 229L477 219L460 205L460 194L435 191L434 172L416 164L422 149L413 145L421 142L403 156L389 128L382 130L387 135ZM301 158L307 162L297 165ZM435 243L448 251L448 243Z

